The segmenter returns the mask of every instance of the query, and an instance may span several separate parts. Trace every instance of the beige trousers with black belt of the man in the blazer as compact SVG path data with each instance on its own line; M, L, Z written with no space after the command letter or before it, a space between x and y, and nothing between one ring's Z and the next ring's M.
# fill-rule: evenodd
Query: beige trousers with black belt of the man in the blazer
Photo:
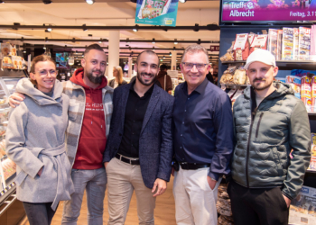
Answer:
M144 185L141 166L132 166L114 157L107 165L108 225L123 225L135 190L139 224L153 225L156 198Z

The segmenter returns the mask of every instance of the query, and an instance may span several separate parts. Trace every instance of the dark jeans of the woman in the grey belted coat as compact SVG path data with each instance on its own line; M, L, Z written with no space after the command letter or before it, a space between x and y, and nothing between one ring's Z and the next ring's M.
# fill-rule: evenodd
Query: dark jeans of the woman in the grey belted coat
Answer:
M52 202L23 202L23 207L30 225L50 225L55 211L51 209ZM58 206L57 206L58 207ZM57 211L57 208L56 208Z

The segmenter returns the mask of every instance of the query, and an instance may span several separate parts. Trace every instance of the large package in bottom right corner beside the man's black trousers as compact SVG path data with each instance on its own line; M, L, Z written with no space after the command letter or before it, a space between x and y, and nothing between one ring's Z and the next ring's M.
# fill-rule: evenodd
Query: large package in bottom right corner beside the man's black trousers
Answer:
M316 189L302 186L290 205L289 224L316 224Z

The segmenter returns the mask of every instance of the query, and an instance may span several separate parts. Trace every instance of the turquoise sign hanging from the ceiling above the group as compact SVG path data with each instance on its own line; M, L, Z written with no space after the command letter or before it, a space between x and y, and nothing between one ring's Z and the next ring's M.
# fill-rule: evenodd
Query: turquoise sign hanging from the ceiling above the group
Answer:
M175 27L179 0L137 0L135 23Z

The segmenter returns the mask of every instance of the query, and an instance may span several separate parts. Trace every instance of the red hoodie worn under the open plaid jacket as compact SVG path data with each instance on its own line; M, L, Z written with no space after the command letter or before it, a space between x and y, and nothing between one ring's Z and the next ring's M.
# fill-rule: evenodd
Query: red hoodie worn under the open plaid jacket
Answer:
M70 81L85 88L86 108L75 163L75 169L98 169L103 167L103 153L106 149L106 121L102 103L102 88L107 86L104 76L102 83L93 89L83 82L83 68L76 70Z

